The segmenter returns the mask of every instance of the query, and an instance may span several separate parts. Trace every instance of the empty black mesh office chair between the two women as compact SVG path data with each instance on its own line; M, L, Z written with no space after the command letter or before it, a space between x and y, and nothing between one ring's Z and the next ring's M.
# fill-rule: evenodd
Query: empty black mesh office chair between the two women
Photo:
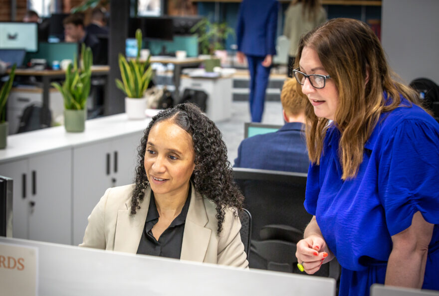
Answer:
M301 273L296 243L312 218L303 206L307 175L234 167L233 178L252 213L250 268ZM331 261L315 275L337 280L340 266Z

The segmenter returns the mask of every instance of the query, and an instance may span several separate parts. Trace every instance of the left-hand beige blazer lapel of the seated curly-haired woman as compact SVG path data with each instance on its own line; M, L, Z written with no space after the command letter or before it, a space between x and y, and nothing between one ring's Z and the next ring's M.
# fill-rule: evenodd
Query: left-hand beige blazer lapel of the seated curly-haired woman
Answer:
M117 213L116 233L114 238L114 251L137 253L140 238L145 226L146 215L151 198L151 187L145 189L143 201L139 204L140 209L135 215L131 215L131 200L125 203L126 209Z

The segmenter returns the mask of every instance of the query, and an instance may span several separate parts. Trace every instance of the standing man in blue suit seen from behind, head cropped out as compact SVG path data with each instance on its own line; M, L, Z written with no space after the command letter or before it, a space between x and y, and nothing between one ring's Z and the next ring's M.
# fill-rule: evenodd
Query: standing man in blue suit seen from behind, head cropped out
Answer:
M242 0L239 7L236 39L238 62L247 56L250 72L250 113L252 122L261 122L265 90L276 54L277 0Z

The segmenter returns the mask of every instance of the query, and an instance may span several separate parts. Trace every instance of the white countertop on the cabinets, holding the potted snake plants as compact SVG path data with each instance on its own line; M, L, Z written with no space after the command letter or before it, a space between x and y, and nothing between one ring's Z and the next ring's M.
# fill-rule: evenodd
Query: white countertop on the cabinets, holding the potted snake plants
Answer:
M151 110L147 114L158 111ZM151 117L144 120L129 120L127 115L122 113L87 120L83 133L67 133L64 126L60 126L8 136L6 148L0 149L0 162L130 135L145 130L150 121Z

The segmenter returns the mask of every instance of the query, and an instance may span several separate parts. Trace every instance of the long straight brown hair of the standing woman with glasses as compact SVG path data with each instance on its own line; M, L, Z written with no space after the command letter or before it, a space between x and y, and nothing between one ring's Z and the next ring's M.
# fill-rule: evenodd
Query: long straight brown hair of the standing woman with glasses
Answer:
M400 95L420 105L416 92L396 81L387 64L380 41L364 22L336 18L314 28L299 41L295 68L299 67L305 46L314 49L339 92L334 125L340 131L339 157L342 179L357 175L363 161L363 148L380 115L397 108ZM299 87L300 90L300 87ZM383 99L388 94L388 102ZM309 158L319 164L328 120L318 118L308 102L305 108L309 125L306 140Z

